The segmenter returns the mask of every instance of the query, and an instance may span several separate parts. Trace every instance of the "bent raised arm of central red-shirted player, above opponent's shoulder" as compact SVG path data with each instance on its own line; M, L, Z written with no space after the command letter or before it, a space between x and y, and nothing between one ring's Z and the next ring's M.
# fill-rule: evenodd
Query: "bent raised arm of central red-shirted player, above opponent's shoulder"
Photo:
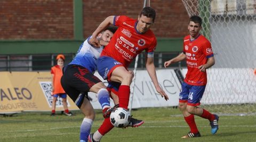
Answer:
M97 36L100 32L107 28L110 24L113 24L115 16L108 16L104 21L100 23L98 28L92 33L92 38L89 40L89 43L95 47L100 47L100 41L97 39Z

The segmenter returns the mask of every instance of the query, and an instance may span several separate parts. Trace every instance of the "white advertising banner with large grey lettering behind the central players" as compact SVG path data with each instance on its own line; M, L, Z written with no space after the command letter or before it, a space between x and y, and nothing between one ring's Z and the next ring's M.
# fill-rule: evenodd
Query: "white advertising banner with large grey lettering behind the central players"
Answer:
M102 79L98 73L95 76ZM158 82L169 96L169 100L165 101L160 94L155 90L155 86L151 81L147 70L137 70L132 108L145 108L145 107L161 107L161 106L177 106L179 103L180 83L173 69L159 69L157 70ZM106 81L105 85L107 85ZM95 93L89 93L94 109L101 109ZM113 106L113 102L111 102ZM131 100L130 103L131 104ZM129 106L130 108L130 106Z

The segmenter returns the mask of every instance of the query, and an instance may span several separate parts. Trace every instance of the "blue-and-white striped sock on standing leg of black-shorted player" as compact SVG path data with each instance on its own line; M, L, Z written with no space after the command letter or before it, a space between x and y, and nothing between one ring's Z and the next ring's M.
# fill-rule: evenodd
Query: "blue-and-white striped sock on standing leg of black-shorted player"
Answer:
M80 128L80 141L88 141L88 136L90 135L93 120L84 118L81 128Z

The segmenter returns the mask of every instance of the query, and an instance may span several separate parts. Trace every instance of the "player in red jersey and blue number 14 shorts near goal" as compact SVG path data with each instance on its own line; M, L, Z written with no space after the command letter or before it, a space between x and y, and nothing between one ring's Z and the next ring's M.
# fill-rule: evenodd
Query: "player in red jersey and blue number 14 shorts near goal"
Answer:
M201 137L196 127L194 115L210 121L212 134L215 134L219 129L219 117L198 107L207 83L206 69L215 64L211 43L199 33L202 28L201 24L201 17L190 17L189 35L184 38L183 52L164 63L164 67L183 59L186 59L187 63L188 72L181 85L179 109L190 127L190 132L182 138Z

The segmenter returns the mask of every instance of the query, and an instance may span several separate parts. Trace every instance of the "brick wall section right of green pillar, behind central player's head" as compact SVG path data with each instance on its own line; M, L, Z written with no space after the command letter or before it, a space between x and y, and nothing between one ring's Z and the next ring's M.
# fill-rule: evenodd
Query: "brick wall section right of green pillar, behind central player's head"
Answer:
M109 15L127 15L135 19L143 7L143 0L83 0L84 36L89 36ZM156 10L152 28L156 37L180 38L188 34L188 14L181 0L151 0Z

